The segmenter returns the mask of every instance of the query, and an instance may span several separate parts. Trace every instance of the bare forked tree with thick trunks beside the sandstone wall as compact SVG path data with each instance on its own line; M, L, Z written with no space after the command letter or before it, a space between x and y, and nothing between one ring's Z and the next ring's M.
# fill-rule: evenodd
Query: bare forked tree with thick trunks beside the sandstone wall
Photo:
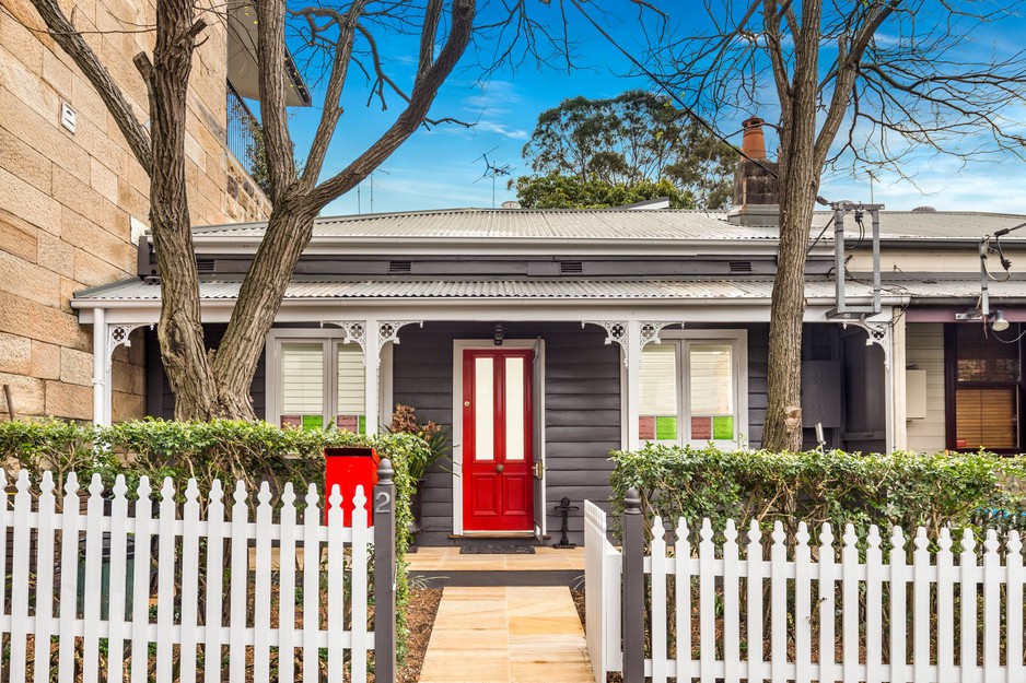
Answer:
M471 38L502 46L495 59L523 50L559 50L521 3L482 17L477 0L348 0L294 7L285 0L254 0L258 36L260 120L273 209L265 237L246 273L218 349L203 344L199 281L193 251L185 180L186 99L195 50L210 22L225 21L224 0L158 0L152 22L133 17L133 32L152 30L151 51L135 58L149 93L148 113L137 113L113 73L93 49L86 32L58 0L31 0L54 40L75 62L106 105L150 177L150 228L161 272L162 308L158 337L175 395L178 419L252 419L249 385L263 340L270 329L300 255L310 243L313 220L331 200L355 187L428 120L439 89L467 51ZM219 3L220 2L220 3ZM231 0L231 5L236 0ZM151 5L152 7L152 5ZM487 8L485 8L487 9ZM508 30L512 26L512 30ZM287 35L290 45L316 54L323 106L308 150L296 150L289 128L285 92ZM409 45L412 75L404 81L382 59L381 46ZM521 47L516 47L520 43ZM517 52L517 50L522 50ZM540 57L539 57L540 58ZM365 76L372 97L401 103L384 132L369 137L340 170L324 174L329 144L342 118L342 93ZM145 123L145 118L149 123ZM350 136L361 136L350 131ZM299 168L295 154L305 158Z

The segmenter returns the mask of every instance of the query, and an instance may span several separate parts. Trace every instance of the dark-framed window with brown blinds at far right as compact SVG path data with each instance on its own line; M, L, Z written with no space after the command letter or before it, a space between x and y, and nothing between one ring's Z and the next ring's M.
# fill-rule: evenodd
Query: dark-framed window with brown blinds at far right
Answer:
M1021 447L1022 348L1011 341L1017 340L1016 328L999 337L981 325L959 325L949 337L955 353L952 419L957 449Z

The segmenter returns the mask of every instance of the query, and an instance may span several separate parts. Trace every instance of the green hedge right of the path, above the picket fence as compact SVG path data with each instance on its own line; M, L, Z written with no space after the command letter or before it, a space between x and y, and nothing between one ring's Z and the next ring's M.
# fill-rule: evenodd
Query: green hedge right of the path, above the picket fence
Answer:
M744 528L751 519L769 528L777 520L793 531L797 520L835 529L852 523L902 529L976 527L981 510L1022 510L1026 457L991 454L922 455L897 451L722 451L649 445L615 451L611 484L619 514L629 487L641 494L651 520L710 518L722 529L727 518ZM1022 517L1015 517L1021 520Z

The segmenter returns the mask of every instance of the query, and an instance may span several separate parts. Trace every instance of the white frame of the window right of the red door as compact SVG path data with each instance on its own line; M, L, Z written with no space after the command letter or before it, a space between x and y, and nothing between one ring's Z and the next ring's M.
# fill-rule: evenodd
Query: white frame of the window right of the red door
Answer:
M739 448L746 446L748 439L748 330L665 330L660 333L663 345L674 344L677 348L677 438L674 441L660 440L652 443L676 444L679 446L704 447L709 443L720 448ZM720 343L731 346L734 392L735 438L691 439L691 378L689 372L687 351L692 343ZM639 378L640 381L640 378ZM644 445L649 439L641 439Z

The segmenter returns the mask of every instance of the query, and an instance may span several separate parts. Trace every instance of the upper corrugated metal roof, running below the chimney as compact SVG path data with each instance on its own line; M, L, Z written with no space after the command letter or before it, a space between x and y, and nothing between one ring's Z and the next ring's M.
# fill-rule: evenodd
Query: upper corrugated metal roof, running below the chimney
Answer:
M829 221L830 212L816 212L813 234ZM1026 222L1024 215L980 212L884 211L885 237L925 239L978 238ZM854 229L851 214L846 219ZM198 238L259 238L265 223L197 227ZM866 225L868 228L868 225ZM326 216L314 222L315 238L422 238L422 239L774 239L772 226L741 226L726 214L672 210L532 210L451 209ZM1026 236L1026 233L1024 233ZM1013 234L1008 239L1017 238ZM824 239L832 239L828 229Z

